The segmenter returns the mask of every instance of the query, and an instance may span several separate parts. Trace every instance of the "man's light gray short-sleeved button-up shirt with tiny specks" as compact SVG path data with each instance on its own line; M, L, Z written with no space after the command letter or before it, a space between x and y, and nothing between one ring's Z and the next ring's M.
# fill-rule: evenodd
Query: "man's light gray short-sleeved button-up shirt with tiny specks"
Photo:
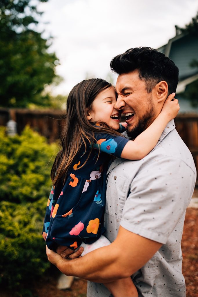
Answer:
M186 296L181 238L196 168L174 121L168 123L156 147L145 158L116 159L109 171L104 235L114 241L121 225L163 244L132 276L139 297ZM88 282L87 296L110 296L110 292L103 284Z

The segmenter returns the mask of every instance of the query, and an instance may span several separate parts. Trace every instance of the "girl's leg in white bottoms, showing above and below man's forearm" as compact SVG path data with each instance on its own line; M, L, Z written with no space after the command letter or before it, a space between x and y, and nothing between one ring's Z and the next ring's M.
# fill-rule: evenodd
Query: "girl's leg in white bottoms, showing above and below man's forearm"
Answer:
M81 244L81 247L84 248L81 256L86 255L87 253L93 251L94 249L99 249L110 244L110 241L101 235L100 238L95 241L93 244ZM117 279L113 282L108 282L104 284L105 287L113 294L114 297L138 297L137 289L131 279L127 277L125 279Z

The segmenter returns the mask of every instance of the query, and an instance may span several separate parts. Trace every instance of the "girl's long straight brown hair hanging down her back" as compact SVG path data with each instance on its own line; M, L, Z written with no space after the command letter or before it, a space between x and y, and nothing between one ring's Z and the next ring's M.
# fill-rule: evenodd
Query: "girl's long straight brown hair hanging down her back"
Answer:
M90 144L94 143L95 133L120 135L106 124L105 127L94 127L87 119L87 112L91 109L96 96L111 86L106 80L91 78L81 81L70 91L67 98L65 126L61 134L62 149L58 152L51 170L53 185L60 180L65 182L69 166L80 151L82 144L84 143L86 151L86 140ZM88 157L90 154L91 151ZM79 168L82 168L87 160Z

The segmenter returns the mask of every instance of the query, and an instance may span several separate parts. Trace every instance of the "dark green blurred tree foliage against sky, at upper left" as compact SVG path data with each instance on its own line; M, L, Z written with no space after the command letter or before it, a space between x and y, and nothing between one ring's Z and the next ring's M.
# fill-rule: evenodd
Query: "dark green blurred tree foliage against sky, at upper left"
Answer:
M61 80L55 73L59 60L47 51L50 39L32 29L42 12L31 3L0 0L0 105L4 107L50 105L50 97L42 91Z

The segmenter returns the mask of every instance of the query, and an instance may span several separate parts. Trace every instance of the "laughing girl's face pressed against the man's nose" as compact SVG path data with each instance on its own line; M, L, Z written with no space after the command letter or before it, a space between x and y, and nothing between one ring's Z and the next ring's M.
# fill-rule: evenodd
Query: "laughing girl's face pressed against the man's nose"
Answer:
M121 112L115 109L115 89L111 86L101 91L94 99L91 109L88 110L87 118L90 122L103 121L113 130L118 130Z

